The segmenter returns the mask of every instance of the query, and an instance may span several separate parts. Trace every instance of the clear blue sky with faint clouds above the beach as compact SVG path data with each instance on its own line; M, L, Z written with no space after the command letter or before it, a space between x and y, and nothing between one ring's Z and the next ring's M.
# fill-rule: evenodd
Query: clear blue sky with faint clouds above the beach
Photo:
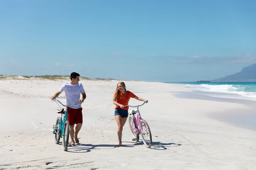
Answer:
M1 0L0 74L180 82L256 63L254 0Z

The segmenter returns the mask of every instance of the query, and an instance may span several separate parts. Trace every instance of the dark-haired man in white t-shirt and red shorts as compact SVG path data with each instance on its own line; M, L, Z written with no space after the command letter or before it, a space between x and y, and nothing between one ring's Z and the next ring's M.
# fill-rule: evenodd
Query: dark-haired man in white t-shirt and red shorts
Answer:
M77 101L81 103L86 99L86 94L83 88L83 85L79 83L79 74L71 73L70 74L70 82L65 83L61 86L61 88L51 96L51 99L57 98L63 91L65 91L67 106L72 106ZM80 93L82 94L82 98L80 99ZM78 133L82 127L83 123L83 115L81 104L74 105L72 108L67 108L67 120L70 123L70 138L71 138L71 146L75 146L74 138L76 143L79 143ZM74 131L74 125L76 124L76 131Z

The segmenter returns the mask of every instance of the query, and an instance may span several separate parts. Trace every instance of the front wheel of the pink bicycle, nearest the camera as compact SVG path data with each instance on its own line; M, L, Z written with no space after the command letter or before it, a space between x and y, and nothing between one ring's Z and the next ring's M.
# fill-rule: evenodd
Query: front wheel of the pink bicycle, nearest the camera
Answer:
M152 136L148 123L145 120L141 120L140 126L140 134L142 136L143 143L145 144L146 147L150 148L152 144Z

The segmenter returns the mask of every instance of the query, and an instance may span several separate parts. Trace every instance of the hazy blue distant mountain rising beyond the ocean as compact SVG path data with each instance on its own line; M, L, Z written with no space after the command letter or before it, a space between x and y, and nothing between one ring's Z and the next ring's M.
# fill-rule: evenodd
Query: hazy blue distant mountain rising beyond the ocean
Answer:
M243 68L240 72L211 82L256 82L256 64Z

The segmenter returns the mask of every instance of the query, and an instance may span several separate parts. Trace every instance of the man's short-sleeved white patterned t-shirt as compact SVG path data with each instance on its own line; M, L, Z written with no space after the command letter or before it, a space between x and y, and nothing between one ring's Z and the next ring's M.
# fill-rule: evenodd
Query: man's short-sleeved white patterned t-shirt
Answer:
M65 83L61 86L61 88L58 90L59 92L65 91L66 99L67 99L67 106L72 106L80 99L80 94L84 93L84 87L81 83L78 83L76 85L71 85L70 82ZM74 109L81 108L81 104L73 105Z

